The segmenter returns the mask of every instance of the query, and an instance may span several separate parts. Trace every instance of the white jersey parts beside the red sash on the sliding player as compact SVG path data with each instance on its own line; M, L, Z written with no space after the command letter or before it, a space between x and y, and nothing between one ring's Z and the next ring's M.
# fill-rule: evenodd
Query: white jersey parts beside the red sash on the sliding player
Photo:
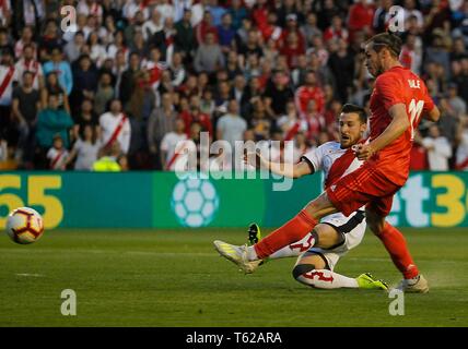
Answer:
M319 170L324 171L324 178L328 178L330 168L334 163L340 158L348 149L341 148L339 142L327 142L317 148L314 148L302 156L314 168L314 172ZM341 177L355 171L364 161L361 161L355 157L348 169Z

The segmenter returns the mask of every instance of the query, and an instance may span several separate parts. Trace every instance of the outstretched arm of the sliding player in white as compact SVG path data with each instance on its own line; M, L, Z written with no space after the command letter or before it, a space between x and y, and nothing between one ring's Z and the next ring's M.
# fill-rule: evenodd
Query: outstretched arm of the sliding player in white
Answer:
M260 153L246 154L244 161L254 166L257 169L266 169L276 174L288 178L301 178L306 174L312 174L312 169L305 161L299 164L272 163L261 156Z

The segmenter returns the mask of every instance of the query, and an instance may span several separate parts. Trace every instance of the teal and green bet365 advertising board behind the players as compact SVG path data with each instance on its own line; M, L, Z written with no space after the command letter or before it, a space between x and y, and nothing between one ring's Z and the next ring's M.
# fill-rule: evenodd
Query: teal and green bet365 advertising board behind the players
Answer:
M258 173L257 173L258 174ZM21 206L48 229L277 227L321 191L320 176L276 190L274 179L172 172L4 172L0 227ZM468 172L413 172L388 218L400 227L468 227Z

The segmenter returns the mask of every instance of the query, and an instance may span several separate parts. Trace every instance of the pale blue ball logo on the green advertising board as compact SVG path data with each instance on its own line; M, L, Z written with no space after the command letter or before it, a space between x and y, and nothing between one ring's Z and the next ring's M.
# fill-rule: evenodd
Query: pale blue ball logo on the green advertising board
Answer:
M190 228L208 226L220 205L214 185L202 178L185 178L173 190L171 207L178 221Z

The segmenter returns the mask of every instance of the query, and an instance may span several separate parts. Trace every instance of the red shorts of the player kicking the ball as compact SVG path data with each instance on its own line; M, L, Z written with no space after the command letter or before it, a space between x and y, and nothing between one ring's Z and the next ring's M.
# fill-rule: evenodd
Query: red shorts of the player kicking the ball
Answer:
M364 163L327 189L327 195L334 206L346 216L364 205L366 209L382 217L390 213L394 195L401 185L390 182L385 171L376 165Z

